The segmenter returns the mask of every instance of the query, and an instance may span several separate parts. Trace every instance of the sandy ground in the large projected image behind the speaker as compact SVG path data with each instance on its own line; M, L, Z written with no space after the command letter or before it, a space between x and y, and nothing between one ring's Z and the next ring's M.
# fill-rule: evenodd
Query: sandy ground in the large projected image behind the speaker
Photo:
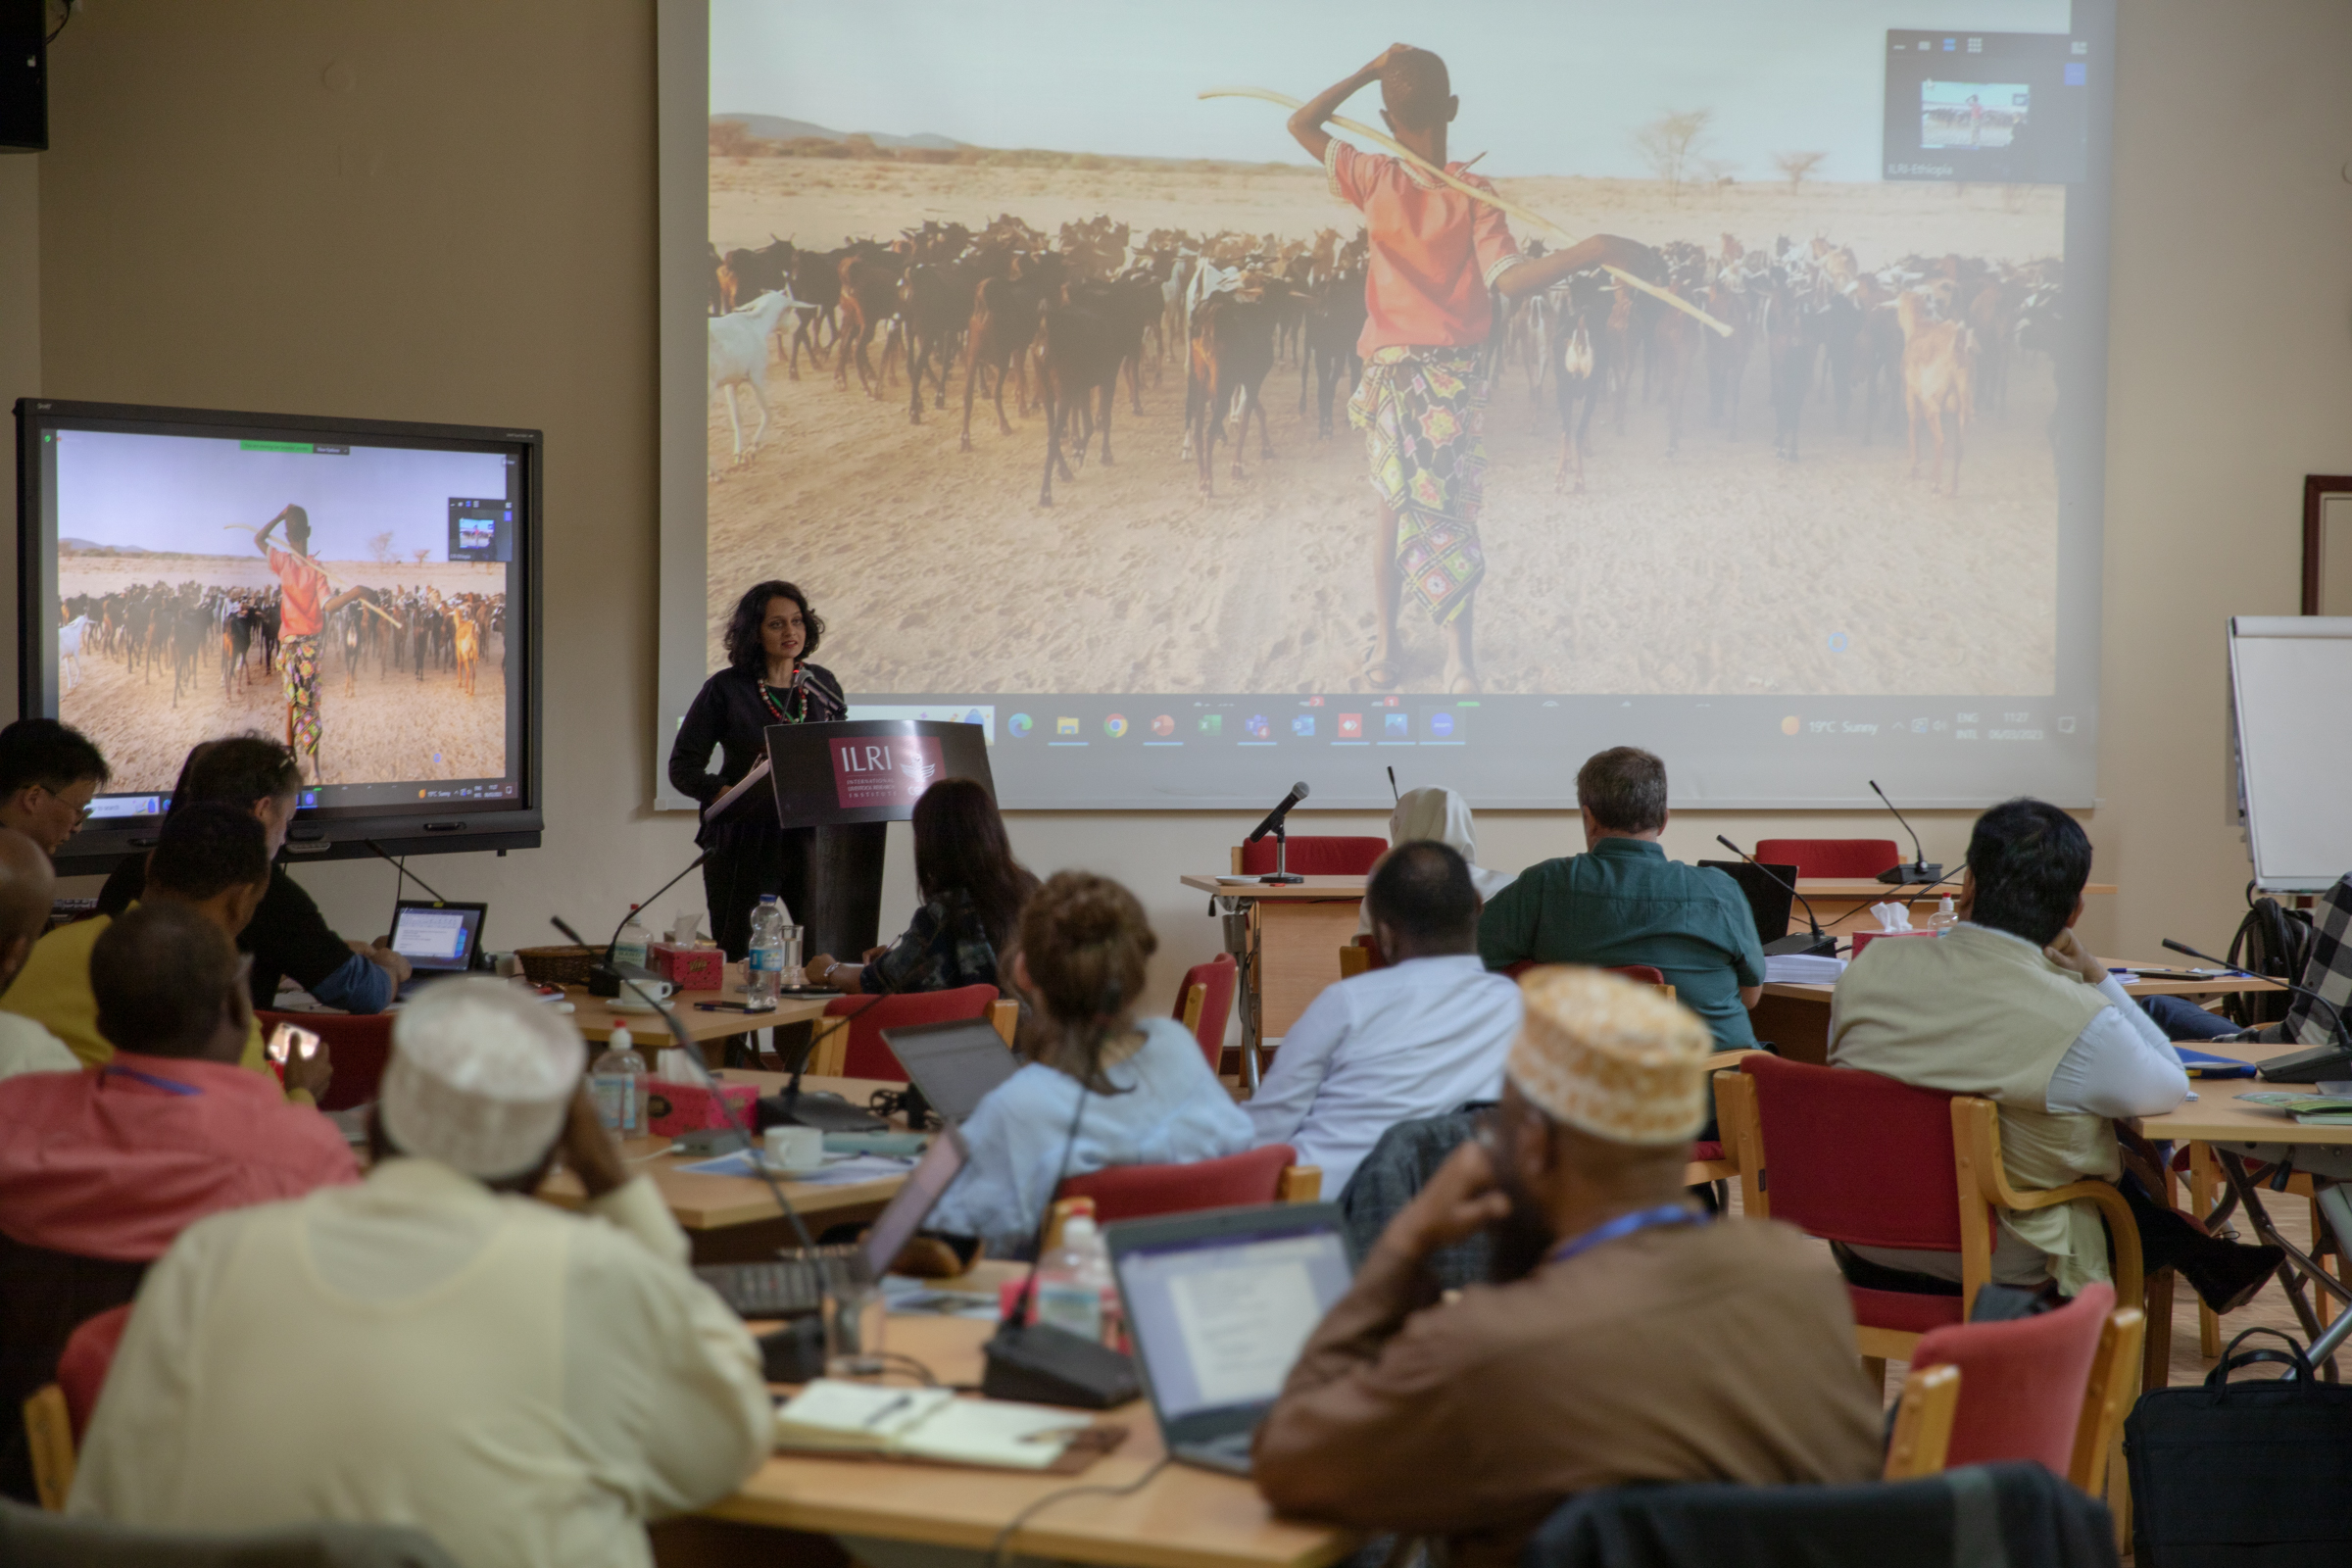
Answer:
M1907 252L1964 249L2025 261L2060 249L2056 190L1950 186L1783 186L1684 193L1630 181L1505 181L1505 195L1571 230L1646 242L1780 233L1851 244L1863 268ZM927 216L985 223L997 212L1054 228L1110 212L1155 226L1310 235L1348 212L1308 169L1268 174L1044 172L748 160L713 165L713 237L809 244L891 235ZM821 654L856 691L1348 691L1371 637L1371 491L1362 437L1338 416L1315 435L1298 414L1298 367L1265 383L1272 458L1218 454L1216 496L1195 491L1183 440L1183 367L1145 378L1143 418L1122 388L1115 465L1096 461L1056 505L1037 505L1042 416L1002 437L974 414L957 451L962 371L950 409L906 416L833 386L771 371L776 423L748 468L710 489L710 637L743 583L790 576L833 623ZM1505 371L1486 421L1477 602L1489 691L1541 693L1905 693L2046 691L2056 668L2056 475L2046 440L2049 362L2020 357L2006 414L1969 428L1962 494L1907 480L1903 428L1844 433L1828 402L1806 409L1804 456L1773 456L1764 355L1755 353L1736 440L1708 428L1703 378L1684 442L1665 454L1665 409L1630 409L1616 435L1592 421L1585 494L1555 494L1552 393ZM1007 397L1007 411L1014 402ZM746 397L748 409L748 397ZM724 407L710 407L724 465ZM1406 609L1404 689L1439 686L1442 644Z

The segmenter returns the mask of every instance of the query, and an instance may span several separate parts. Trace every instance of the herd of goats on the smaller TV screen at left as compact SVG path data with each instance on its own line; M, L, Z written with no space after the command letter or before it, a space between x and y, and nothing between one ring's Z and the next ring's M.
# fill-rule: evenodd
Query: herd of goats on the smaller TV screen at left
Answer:
M275 677L282 637L280 590L221 588L205 583L132 583L129 588L59 599L59 665L66 691L82 682L82 658L120 661L141 682L158 670L172 675L172 705L181 691L205 679L207 658L219 665L221 696L233 701L245 686ZM327 616L320 635L320 686L341 675L346 696L360 689L369 658L379 677L393 670L454 672L466 696L475 693L482 649L506 630L506 595L437 588L362 588L360 597ZM503 661L501 646L501 661ZM501 665L503 668L503 665Z

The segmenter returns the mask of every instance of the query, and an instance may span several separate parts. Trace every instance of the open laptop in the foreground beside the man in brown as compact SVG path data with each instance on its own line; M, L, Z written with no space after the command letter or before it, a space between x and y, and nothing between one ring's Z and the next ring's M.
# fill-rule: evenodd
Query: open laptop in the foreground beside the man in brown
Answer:
M1355 1274L1338 1204L1122 1220L1103 1239L1169 1458L1247 1476L1258 1422Z

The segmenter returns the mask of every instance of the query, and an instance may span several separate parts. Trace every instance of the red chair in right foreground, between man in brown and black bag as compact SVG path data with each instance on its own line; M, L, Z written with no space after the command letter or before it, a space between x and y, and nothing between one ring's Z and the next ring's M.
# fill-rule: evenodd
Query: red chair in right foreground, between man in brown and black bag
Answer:
M1959 1415L1947 1465L2034 1460L2098 1495L2145 1316L2114 1309L2114 1286L2039 1316L1955 1324L1919 1335L1912 1373L1959 1368Z

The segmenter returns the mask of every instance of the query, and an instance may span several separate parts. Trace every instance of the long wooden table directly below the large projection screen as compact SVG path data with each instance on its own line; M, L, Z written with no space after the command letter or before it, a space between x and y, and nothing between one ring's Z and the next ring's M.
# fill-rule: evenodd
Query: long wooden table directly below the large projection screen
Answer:
M1279 1041L1322 987L1338 980L1338 950L1355 940L1364 884L1367 877L1305 877L1289 884L1214 872L1183 877L1183 886L1216 898L1232 898L1249 910L1251 950L1240 954L1244 971L1240 997L1244 1044ZM1936 900L1957 891L1957 872L1947 884L1933 889L1919 889L1917 884L1889 886L1865 877L1802 877L1797 882L1797 891L1813 903L1820 924L1835 929L1839 936L1849 933L1844 929L1849 919L1863 914L1875 903L1889 900L1910 905L1912 924L1924 926L1926 914L1922 910L1933 910ZM2093 882L2084 893L2105 898L2114 893L2114 884ZM1804 905L1795 905L1790 931L1802 929L1806 929ZM1762 1020L1757 1032L1764 1034Z

